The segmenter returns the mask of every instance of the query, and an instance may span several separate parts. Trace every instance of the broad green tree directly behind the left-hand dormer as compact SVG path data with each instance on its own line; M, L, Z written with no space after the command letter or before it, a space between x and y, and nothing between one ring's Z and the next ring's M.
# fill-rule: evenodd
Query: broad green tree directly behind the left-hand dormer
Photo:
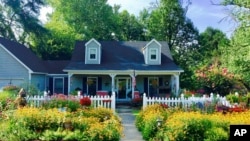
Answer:
M111 40L118 28L117 15L107 0L50 0L49 3L84 40Z

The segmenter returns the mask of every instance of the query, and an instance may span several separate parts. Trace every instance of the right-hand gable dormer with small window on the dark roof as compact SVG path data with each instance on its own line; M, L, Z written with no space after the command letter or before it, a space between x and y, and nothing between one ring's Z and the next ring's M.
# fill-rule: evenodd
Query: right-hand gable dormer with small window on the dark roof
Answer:
M155 39L151 40L143 48L144 60L148 65L160 65L161 64L161 44Z

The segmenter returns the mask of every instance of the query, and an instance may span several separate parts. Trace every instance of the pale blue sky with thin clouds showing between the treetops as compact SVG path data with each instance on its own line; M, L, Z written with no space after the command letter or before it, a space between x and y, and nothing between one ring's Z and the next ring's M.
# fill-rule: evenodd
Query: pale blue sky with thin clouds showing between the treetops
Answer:
M148 8L150 2L156 0L108 0L111 5L121 5L121 10L126 9L128 12L138 15L143 8ZM158 0L159 1L159 0ZM187 17L190 18L195 27L203 32L208 26L222 30L228 37L236 27L236 23L230 20L229 8L225 6L213 5L220 0L191 0Z

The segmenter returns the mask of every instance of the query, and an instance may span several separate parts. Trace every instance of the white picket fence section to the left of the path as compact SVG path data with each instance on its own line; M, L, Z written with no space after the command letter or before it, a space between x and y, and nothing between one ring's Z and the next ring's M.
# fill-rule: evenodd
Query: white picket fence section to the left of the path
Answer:
M115 111L115 93L113 93L111 96L87 96L91 100L91 106L94 108L97 107L104 107L109 108ZM66 96L66 100L76 100L80 102L80 99L83 98L83 96ZM34 107L40 107L44 102L55 99L55 96L27 96L26 97L27 102Z

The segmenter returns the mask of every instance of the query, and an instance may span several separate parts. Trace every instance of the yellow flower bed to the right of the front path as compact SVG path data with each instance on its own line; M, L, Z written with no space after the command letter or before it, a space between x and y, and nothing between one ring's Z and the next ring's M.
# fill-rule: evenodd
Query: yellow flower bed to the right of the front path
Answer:
M228 141L230 125L250 124L249 117L250 111L239 107L208 114L155 104L139 113L136 126L143 138L150 141Z

